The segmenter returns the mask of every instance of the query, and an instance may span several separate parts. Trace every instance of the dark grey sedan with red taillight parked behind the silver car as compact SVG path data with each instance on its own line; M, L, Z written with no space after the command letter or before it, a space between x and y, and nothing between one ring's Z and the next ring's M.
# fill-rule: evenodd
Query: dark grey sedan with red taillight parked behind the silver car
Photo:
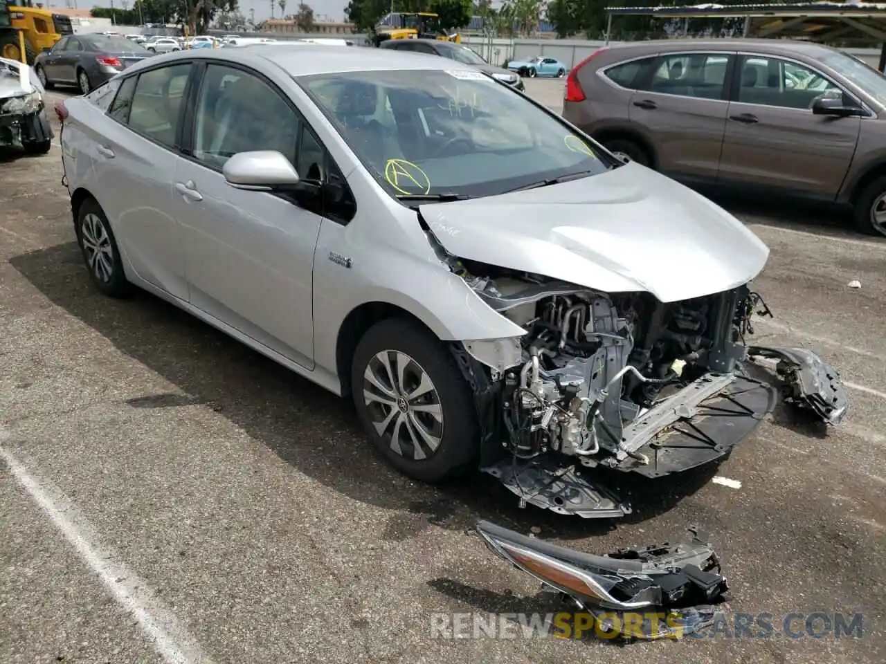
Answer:
M37 55L34 70L46 89L75 85L85 95L150 55L143 46L121 36L68 35Z

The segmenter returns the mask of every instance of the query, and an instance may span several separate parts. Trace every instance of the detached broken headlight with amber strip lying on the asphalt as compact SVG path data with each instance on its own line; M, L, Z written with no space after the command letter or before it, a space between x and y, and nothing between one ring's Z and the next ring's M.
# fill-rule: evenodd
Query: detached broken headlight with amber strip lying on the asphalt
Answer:
M620 549L604 556L573 551L479 521L471 534L495 555L594 616L601 637L682 637L714 620L728 591L719 560L696 529L680 544Z

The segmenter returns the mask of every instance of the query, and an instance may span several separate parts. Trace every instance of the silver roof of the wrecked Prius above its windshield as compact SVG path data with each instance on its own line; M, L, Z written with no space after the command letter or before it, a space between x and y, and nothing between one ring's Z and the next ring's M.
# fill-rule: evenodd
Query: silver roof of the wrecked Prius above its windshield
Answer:
M400 52L399 50L304 42L298 45L256 43L240 49L179 51L147 58L127 71L154 66L159 62L171 63L175 60L189 58L227 60L259 68L273 65L294 77L315 73L373 72L385 69L477 71L475 66L439 56L426 55L424 58L416 58L415 53Z

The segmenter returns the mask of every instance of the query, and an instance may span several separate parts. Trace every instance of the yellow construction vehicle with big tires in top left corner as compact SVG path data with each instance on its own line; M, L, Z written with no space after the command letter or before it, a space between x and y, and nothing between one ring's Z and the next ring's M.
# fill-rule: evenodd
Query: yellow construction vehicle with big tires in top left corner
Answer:
M71 19L35 7L32 0L0 0L0 56L28 65L43 49L72 35Z

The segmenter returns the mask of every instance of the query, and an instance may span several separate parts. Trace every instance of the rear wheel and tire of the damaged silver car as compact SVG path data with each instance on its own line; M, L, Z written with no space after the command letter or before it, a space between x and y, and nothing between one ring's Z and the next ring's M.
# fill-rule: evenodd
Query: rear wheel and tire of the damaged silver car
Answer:
M108 297L126 295L129 284L123 274L117 238L105 212L94 199L89 198L80 206L75 230L89 277L96 288Z

